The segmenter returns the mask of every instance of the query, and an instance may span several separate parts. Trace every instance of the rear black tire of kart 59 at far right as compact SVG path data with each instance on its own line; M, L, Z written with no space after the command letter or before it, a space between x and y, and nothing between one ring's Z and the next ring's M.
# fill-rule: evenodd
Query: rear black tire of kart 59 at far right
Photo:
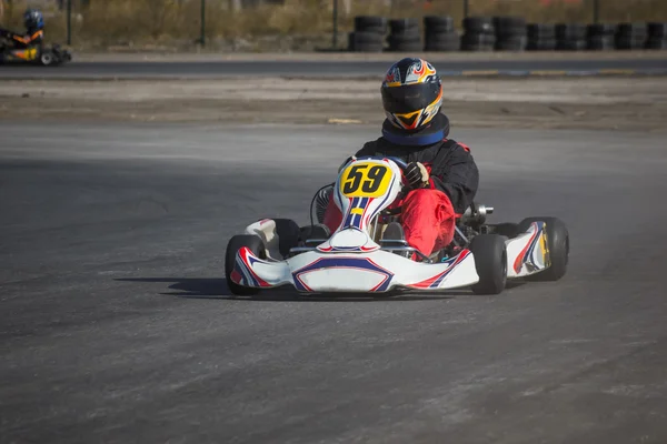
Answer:
M528 276L530 281L558 281L567 272L569 262L569 233L565 222L558 218L527 218L519 223L519 232L528 230L532 222L547 224L547 248L551 265L537 274Z

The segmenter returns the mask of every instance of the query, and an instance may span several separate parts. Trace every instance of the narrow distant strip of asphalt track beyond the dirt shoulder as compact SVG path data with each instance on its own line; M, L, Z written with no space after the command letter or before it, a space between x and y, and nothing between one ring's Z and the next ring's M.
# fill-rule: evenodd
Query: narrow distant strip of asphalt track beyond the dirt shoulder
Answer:
M387 61L211 61L211 62L77 62L42 67L0 67L0 79L19 78L216 78L242 75L367 77L381 75ZM438 72L460 71L664 71L667 59L619 60L455 60L434 62Z

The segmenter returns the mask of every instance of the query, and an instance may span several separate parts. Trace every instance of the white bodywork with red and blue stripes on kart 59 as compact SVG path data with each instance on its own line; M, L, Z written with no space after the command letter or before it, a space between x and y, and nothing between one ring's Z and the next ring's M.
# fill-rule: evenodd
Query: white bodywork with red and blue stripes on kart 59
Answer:
M352 159L348 165L355 162L358 161ZM236 255L232 281L259 289L290 285L303 293L382 293L394 289L442 291L479 282L470 250L464 249L442 262L416 262L385 251L374 241L374 223L380 211L397 198L401 189L401 171L388 159L361 163L388 169L388 175L382 176L382 193L372 196L346 193L341 178L348 169L341 169L334 188L334 199L344 218L332 235L309 251L285 259L278 249L273 220L255 222L247 226L246 234L262 240L267 258L260 259L248 248L241 248ZM534 222L525 233L506 241L508 279L522 278L548 268L544 225L544 222Z

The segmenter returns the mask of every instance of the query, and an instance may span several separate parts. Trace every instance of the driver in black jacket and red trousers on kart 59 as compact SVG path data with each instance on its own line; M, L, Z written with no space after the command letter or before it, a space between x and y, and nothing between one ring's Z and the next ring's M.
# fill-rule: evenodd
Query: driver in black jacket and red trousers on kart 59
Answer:
M404 175L409 191L391 206L401 208L400 224L390 223L384 238L405 240L430 256L451 242L457 214L472 203L479 183L477 165L468 147L447 138L449 119L440 113L442 85L429 62L414 58L396 62L380 91L387 115L382 137L355 155L395 157L408 164ZM323 224L332 232L341 220L329 199Z

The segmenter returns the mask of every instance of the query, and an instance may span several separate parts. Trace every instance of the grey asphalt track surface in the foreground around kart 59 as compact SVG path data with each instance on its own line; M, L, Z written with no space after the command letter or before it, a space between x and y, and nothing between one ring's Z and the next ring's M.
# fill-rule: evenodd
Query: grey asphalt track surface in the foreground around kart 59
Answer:
M665 443L661 137L456 131L556 283L232 300L227 239L305 223L376 129L0 124L2 443Z

